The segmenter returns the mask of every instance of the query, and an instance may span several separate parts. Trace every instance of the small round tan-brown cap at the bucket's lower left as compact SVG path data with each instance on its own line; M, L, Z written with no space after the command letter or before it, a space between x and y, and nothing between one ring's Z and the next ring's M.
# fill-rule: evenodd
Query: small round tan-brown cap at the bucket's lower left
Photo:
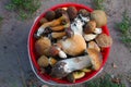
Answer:
M38 61L37 61L38 65L41 67L47 67L49 65L49 60L46 55L41 55Z

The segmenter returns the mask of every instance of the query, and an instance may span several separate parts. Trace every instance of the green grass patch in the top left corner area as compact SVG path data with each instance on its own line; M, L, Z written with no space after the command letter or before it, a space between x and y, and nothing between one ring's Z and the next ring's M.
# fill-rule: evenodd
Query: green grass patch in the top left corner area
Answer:
M16 11L22 20L31 17L33 13L39 8L39 0L11 0L5 9Z

